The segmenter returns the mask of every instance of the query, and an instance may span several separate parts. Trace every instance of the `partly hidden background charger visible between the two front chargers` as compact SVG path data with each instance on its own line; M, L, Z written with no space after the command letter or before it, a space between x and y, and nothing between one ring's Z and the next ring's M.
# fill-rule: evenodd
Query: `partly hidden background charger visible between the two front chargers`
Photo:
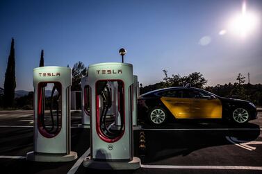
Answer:
M81 78L82 89L82 128L90 128L90 85L88 76Z

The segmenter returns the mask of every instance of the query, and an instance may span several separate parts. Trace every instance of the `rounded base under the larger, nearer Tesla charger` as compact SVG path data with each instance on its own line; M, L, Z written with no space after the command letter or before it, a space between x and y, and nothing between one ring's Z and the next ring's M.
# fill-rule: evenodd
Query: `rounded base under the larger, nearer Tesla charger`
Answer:
M83 166L100 170L136 170L141 167L141 160L138 157L133 157L130 162L101 162L92 160L89 156L84 159Z

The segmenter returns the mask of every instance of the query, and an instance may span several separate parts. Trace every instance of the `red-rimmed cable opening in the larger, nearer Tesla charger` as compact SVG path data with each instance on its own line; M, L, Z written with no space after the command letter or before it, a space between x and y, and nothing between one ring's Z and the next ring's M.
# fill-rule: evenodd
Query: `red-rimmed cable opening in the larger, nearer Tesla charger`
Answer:
M96 124L99 137L115 142L124 134L124 82L96 82Z

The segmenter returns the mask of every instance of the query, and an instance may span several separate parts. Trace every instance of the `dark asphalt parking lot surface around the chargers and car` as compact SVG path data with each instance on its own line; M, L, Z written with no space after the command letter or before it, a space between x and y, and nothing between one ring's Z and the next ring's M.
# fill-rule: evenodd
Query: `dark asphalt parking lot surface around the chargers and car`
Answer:
M245 125L219 120L176 121L134 130L136 171L107 173L262 173L262 112ZM79 128L81 112L72 113L72 162L29 162L33 150L33 111L0 111L0 173L101 173L83 166L90 129ZM140 132L145 149L140 148ZM105 173L105 172L103 172Z

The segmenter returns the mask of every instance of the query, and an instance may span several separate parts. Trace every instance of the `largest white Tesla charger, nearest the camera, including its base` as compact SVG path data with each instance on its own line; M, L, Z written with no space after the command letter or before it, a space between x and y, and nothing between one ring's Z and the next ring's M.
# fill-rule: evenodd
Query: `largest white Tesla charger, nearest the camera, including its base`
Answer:
M101 63L88 67L91 150L83 165L99 169L137 169L133 157L133 66ZM120 126L115 118L120 117Z

